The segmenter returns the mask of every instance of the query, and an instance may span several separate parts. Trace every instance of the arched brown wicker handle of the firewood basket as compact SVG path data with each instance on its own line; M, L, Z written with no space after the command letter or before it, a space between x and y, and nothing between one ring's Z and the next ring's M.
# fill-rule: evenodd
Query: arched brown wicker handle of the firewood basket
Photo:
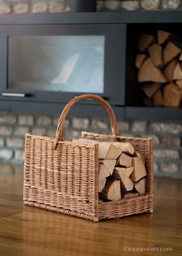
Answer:
M72 108L72 105L75 104L78 101L89 100L89 99L99 101L99 103L102 104L104 108L106 108L106 111L107 111L107 113L109 115L109 118L110 118L113 138L116 140L116 136L118 135L118 128L117 128L117 122L116 122L115 114L113 112L113 108L111 108L110 104L107 103L105 100L103 100L102 97L99 97L98 95L83 94L83 95L74 97L71 101L69 101L66 104L65 108L63 109L62 114L61 114L61 116L59 118L59 121L58 121L58 125L57 125L56 138L55 138L54 145L53 145L54 149L56 149L56 145L59 142L59 140L62 141L63 125L64 125L64 122L65 122L65 119L66 119L66 115L68 114L70 108Z

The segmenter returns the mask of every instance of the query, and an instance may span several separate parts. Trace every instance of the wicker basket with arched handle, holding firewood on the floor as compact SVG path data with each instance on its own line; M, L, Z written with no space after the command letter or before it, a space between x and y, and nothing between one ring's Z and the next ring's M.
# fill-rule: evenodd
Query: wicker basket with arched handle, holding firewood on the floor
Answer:
M99 200L98 145L62 141L66 115L72 105L82 99L103 104L110 117L113 132L110 136L116 141L130 142L137 152L144 155L147 169L145 195L130 200ZM87 132L82 136L106 137ZM153 212L153 139L117 136L116 118L110 104L93 94L75 97L62 111L56 138L25 135L24 203L93 221Z

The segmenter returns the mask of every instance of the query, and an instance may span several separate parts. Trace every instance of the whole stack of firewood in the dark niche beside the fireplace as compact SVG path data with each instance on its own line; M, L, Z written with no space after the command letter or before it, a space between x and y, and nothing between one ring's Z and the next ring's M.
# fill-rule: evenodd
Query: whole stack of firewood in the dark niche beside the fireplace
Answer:
M182 100L182 36L163 30L141 34L136 55L138 82L147 106L179 108Z

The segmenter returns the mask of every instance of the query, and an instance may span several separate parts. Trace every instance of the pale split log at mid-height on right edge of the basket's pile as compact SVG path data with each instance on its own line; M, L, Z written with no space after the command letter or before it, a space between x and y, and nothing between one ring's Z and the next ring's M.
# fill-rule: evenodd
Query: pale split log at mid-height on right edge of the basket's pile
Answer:
M137 180L147 176L146 168L143 164L142 159L138 157L133 158L133 172L130 176L130 179L135 183Z

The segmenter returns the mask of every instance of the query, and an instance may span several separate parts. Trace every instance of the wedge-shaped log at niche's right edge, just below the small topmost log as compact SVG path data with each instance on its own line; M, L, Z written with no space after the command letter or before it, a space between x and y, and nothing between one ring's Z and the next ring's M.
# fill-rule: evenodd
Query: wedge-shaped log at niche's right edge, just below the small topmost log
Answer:
M176 56L181 53L181 49L174 45L174 43L169 42L167 46L163 49L163 63L167 64L170 60L174 60Z

